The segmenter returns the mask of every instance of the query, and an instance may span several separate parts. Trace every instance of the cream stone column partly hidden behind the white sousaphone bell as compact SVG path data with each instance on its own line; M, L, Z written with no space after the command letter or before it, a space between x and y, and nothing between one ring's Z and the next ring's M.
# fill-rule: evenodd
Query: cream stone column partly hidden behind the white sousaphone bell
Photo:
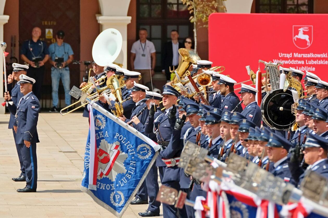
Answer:
M122 35L122 50L124 53L123 68L127 68L127 25L131 23L129 16L97 16L98 23L101 24L100 32L108 28L114 28L120 31Z

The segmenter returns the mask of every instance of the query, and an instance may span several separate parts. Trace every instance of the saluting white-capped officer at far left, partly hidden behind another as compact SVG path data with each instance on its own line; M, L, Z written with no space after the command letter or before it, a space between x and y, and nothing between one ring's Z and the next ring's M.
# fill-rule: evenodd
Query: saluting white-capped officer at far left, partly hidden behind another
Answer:
M12 67L13 67L13 71L12 74L8 76L8 80L7 80L8 84L11 84L13 80L19 81L19 76L22 74L26 75L26 71L27 69L29 69L29 66L17 64L17 63L13 63ZM13 104L17 105L18 101L21 99L21 97L23 97L23 94L20 92L20 85L18 83L16 83L13 87L9 85L8 92L9 95L11 96L11 101L13 102ZM21 174L16 178L12 178L12 180L14 180L15 182L20 182L20 181L25 181L25 168L22 160L21 149L19 147L19 144L16 143L17 124L15 122L15 114L16 114L15 110L12 112L10 111L8 128L12 129L12 134L14 136L18 159L21 167Z

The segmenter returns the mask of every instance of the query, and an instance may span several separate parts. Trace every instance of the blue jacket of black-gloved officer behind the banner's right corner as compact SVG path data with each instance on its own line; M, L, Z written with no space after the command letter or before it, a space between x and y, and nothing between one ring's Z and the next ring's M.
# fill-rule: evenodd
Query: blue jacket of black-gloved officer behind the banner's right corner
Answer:
M161 117L159 117L159 116L161 116L162 119L160 119ZM166 116L166 118L164 118L164 116ZM160 121L157 121L158 119L160 119ZM154 124L154 120L157 121L156 125ZM171 127L170 128L166 127L166 126L170 126L167 115L164 115L163 112L157 108L157 111L155 112L154 117L148 116L148 119L145 123L145 133L146 134L152 134L152 133L154 134L154 130L158 129L159 124L160 124L159 128L161 129L161 131L164 131L164 132L170 131ZM172 131L172 129L171 129L171 131ZM171 134L172 134L172 132L171 132ZM163 140L167 140L165 142L168 142L170 140L170 138L166 134L163 137L165 138ZM156 134L156 138L154 138L154 142L157 142L157 141L162 141L158 132ZM166 166L166 164L162 160L162 156L160 156L160 155L158 155L156 158L156 166L158 166L158 167Z

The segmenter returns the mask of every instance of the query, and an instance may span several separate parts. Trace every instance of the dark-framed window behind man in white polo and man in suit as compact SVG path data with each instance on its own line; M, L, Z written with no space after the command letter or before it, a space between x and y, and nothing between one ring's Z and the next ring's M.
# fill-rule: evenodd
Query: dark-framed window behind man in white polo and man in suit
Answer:
M147 29L147 39L156 49L155 71L161 71L161 50L164 42L171 40L171 30L179 33L179 42L193 36L193 25L189 21L189 11L181 0L137 0L137 31Z

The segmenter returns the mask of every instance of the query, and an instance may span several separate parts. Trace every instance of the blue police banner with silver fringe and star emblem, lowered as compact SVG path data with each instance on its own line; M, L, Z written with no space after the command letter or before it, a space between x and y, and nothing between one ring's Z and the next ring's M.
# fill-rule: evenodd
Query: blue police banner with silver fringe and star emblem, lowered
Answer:
M159 146L99 105L88 108L91 121L81 190L121 217L154 164Z

